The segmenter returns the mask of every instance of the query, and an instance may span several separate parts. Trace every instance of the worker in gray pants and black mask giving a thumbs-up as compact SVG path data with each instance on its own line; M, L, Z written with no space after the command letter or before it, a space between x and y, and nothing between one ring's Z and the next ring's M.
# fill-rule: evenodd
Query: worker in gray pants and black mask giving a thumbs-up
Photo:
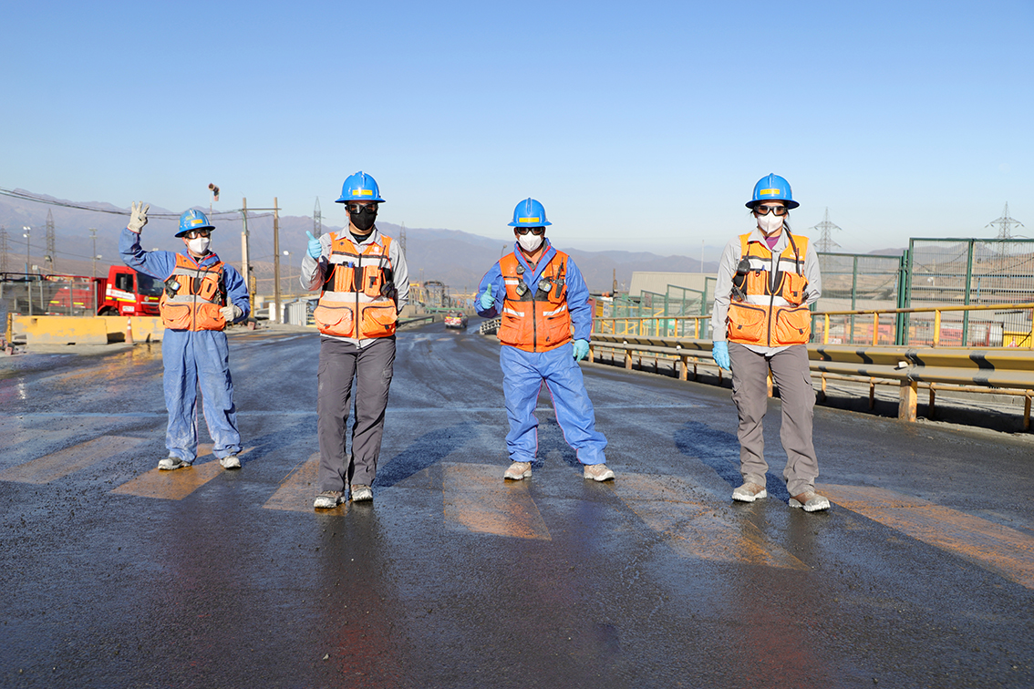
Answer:
M373 499L388 388L395 363L395 323L405 306L409 277L398 243L374 225L381 198L377 183L356 173L344 181L338 203L348 227L312 237L302 257L304 289L320 289L312 317L320 328L316 411L320 419L316 509ZM345 427L356 380L352 452Z

